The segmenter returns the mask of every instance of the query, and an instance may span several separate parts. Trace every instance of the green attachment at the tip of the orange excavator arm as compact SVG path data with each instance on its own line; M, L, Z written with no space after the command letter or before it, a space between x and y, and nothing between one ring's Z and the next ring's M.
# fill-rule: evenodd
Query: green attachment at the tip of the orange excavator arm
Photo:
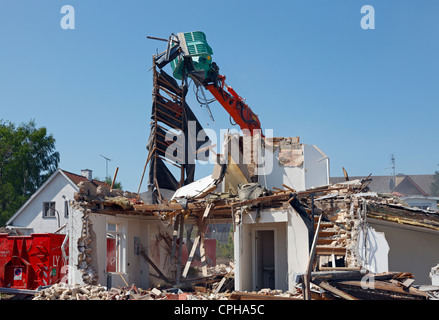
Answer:
M207 44L206 35L201 31L177 33L180 47L184 56L192 58L194 70L204 73L203 78L207 78L208 72L212 68L212 48ZM185 62L181 55L171 61L172 75L176 79L183 79Z

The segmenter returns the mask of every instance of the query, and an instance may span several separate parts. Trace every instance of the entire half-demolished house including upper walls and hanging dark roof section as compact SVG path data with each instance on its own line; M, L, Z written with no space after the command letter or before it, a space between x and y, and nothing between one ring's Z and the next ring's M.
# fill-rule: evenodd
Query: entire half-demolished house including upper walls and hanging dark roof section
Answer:
M328 157L297 137L228 134L223 153L212 155L207 136L185 141L189 121L197 133L202 128L184 90L153 71L148 191L140 193L143 175L137 193L81 182L67 227L70 285L138 297L137 288L190 289L193 299L206 290L237 300L437 297L436 287L415 287L413 274L389 271L384 230L392 222L416 225L437 243L437 215L368 192L369 179L330 185ZM166 139L169 132L177 138ZM181 161L191 144L215 158L211 175L194 180L195 164ZM216 265L216 240L207 236L220 224L232 230L226 268ZM148 298L167 297L155 290Z

